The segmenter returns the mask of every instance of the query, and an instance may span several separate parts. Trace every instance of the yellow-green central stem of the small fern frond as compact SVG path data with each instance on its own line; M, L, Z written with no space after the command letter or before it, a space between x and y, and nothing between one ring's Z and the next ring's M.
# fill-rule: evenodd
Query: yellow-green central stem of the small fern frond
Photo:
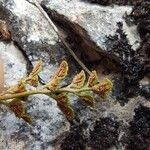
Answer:
M56 91L50 91L48 89L37 89L37 90L25 91L22 93L0 95L0 101L12 99L12 98L29 96L29 95L33 95L33 94L45 94L45 95L50 96L51 94L55 94L55 93L62 93L62 92L79 93L79 92L84 92L84 91L91 91L91 88L84 87L81 89L73 89L73 88L64 87L64 88L60 88Z

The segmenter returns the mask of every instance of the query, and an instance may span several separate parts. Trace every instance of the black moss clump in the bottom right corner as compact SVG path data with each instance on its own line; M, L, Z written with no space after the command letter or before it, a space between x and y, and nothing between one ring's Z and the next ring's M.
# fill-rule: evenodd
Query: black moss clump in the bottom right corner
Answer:
M150 108L140 105L130 122L127 150L150 149Z

